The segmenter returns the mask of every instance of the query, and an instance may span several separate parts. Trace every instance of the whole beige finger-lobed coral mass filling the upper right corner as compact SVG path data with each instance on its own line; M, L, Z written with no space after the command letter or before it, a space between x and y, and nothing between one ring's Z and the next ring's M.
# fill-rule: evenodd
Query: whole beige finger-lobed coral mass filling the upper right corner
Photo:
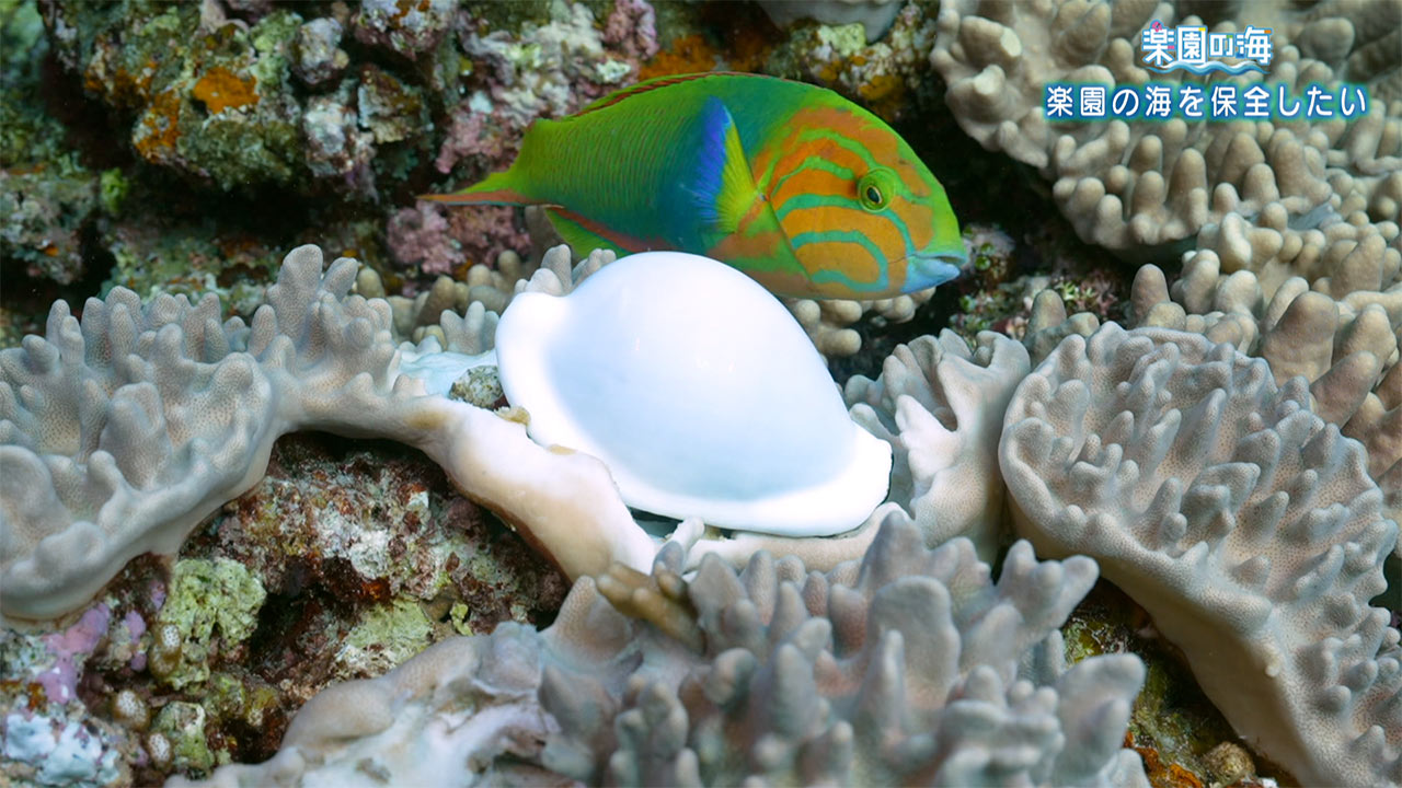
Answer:
M1266 79L1294 94L1340 74L1396 73L1396 48L1382 53L1395 36L1373 29L1395 21L1395 4L1258 11L1252 20L1277 34ZM931 57L963 129L1053 179L1084 238L1136 257L1196 240L1172 300L1162 273L1140 272L1136 320L1230 341L1266 358L1277 383L1304 374L1319 415L1368 446L1374 478L1402 510L1402 105L1378 77L1371 109L1349 122L1046 122L1047 81L1147 81L1133 39L1150 17L1171 24L1171 13L1150 1L956 3L941 13ZM1033 358L1098 327L1088 315L1066 322L1053 301L1035 308Z

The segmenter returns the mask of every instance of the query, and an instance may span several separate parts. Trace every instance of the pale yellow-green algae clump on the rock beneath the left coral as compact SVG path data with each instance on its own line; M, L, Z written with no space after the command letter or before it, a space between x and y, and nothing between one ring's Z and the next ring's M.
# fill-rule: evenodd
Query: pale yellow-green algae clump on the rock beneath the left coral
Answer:
M266 592L247 566L227 558L188 558L171 572L165 604L154 627L174 628L178 653L153 659L151 670L172 688L210 677L210 659L254 634Z

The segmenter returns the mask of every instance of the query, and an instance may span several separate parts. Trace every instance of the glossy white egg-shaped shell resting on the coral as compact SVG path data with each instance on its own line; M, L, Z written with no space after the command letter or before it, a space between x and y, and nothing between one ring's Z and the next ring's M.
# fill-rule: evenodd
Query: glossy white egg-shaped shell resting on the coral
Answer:
M629 506L829 536L886 498L890 446L847 415L823 358L764 287L683 252L621 258L496 327L529 433L608 466Z

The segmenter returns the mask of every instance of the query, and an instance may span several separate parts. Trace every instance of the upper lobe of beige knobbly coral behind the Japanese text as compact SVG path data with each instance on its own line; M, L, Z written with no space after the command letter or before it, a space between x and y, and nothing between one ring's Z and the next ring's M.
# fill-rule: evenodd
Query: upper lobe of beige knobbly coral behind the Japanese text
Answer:
M981 15L987 14L987 15ZM1140 259L1180 251L1197 238L1224 255L1242 250L1242 226L1259 244L1234 254L1234 268L1260 268L1277 252L1295 269L1354 244L1395 244L1398 226L1373 199L1391 186L1402 118L1384 98L1366 118L1315 128L1287 123L1075 123L1042 116L1043 86L1053 81L1145 83L1131 38L1172 10L1152 1L1039 6L946 4L931 60L949 83L946 101L960 126L984 147L1007 151L1053 181L1053 198L1087 241ZM1223 22L1214 29L1235 29ZM1301 34L1307 35L1307 34ZM1315 36L1318 41L1318 36ZM1329 64L1277 42L1270 72L1238 77L1280 81L1300 94L1309 83L1336 84ZM1168 74L1159 81L1173 81ZM1256 244L1256 241L1252 241ZM1396 248L1384 266L1396 266ZM1224 255L1225 257L1225 255Z

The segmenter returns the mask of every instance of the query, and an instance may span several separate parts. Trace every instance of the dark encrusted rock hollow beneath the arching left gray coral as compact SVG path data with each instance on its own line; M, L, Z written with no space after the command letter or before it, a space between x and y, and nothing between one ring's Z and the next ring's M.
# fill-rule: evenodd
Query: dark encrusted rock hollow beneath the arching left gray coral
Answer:
M69 726L91 742L80 754L101 761L93 768L158 784L171 770L266 759L329 683L384 673L444 637L554 617L564 579L432 463L342 443L279 440L269 475L174 568L133 561L66 630L0 634L3 708L39 721L14 722L14 736L53 722L57 742ZM191 583L192 565L213 572ZM255 628L222 603L254 597L202 596L206 575L237 580L224 590L265 589Z

